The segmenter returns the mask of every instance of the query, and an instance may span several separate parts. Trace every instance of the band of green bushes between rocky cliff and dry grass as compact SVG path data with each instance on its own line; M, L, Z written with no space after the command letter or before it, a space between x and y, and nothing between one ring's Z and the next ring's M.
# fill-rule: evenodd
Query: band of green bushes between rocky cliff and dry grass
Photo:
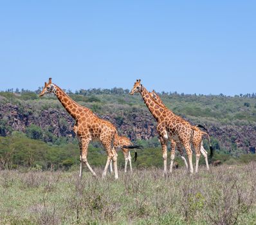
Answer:
M45 143L41 140L28 138L23 132L12 132L12 136L0 137L0 168L17 168L17 167L37 167L42 170L51 167L69 169L73 165L79 164L79 147L77 139L73 143L66 138L58 138L55 145ZM143 149L137 149L138 158L133 163L134 168L163 167L163 157L161 147L156 147L159 143L157 138L149 141L138 140L136 144L142 145ZM95 146L95 147L94 147ZM102 145L89 145L89 154L87 159L93 167L104 167L107 155ZM170 149L170 147L169 147ZM168 153L170 154L170 153ZM134 156L134 150L131 150L131 156ZM193 156L194 157L194 156ZM195 161L195 158L193 158ZM248 163L256 161L256 154L239 154L239 157L232 156L228 152L215 150L212 161L221 160L221 163L235 165L237 163ZM175 161L184 165L183 160L176 152ZM123 168L125 165L122 151L118 151L118 167ZM201 157L199 165L205 165L205 159Z

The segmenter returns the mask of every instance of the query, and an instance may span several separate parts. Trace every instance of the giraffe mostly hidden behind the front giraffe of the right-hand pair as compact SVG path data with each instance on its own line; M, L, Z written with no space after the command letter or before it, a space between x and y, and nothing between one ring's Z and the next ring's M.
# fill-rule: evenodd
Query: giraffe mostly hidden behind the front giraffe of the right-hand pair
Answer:
M165 107L166 109L168 109L165 104L163 104L163 101L161 100L160 96L158 96L156 94L156 92L153 90L151 93L152 98L154 98L154 100L156 100L156 102L158 103L158 105L161 105L163 107ZM170 109L168 109L171 113L173 113ZM203 127L203 126L201 126ZM192 126L191 128L194 129L194 136L192 139L192 145L195 149L196 152L196 172L198 172L198 163L199 163L199 158L201 156L201 153L203 154L203 156L205 157L205 163L206 163L206 169L209 170L209 165L208 165L208 158L207 158L207 152L203 147L203 136L206 135L208 137L208 141L210 143L210 137L206 132L201 131L197 126ZM174 162L174 158L175 158L175 148L177 148L181 154L181 158L183 158L185 165L187 167L187 161L186 159L182 156L183 154L183 149L182 146L179 143L176 143L176 141L171 140L171 150L170 150L170 172L172 172L172 165ZM212 145L210 143L210 149L211 149L211 154L212 154Z

